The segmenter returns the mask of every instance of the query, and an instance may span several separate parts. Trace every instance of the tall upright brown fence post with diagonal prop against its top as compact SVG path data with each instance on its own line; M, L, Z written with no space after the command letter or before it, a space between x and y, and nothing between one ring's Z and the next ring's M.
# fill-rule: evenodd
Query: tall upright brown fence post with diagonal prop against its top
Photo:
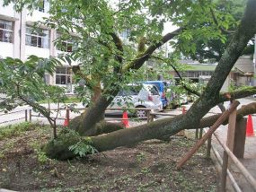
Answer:
M236 110L234 110L228 119L228 129L227 129L227 138L226 145L233 152L234 149L234 131L235 131L235 122L236 122ZM222 164L222 174L221 174L221 183L220 183L220 191L225 191L226 187L226 172L228 166L228 155L224 151L223 154L223 164Z

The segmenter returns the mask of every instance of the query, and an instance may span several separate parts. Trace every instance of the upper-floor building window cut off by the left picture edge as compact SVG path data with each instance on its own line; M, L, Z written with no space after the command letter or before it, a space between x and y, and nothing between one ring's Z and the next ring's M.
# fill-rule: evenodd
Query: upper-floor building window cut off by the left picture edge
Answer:
M13 43L13 22L0 20L0 41Z

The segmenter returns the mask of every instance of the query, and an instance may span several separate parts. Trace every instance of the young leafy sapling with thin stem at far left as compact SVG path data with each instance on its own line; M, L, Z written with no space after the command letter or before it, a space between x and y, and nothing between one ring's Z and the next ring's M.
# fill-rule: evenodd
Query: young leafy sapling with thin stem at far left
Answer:
M50 109L40 105L41 100L50 100L58 105L65 102L66 95L63 88L50 86L44 82L44 74L52 74L56 65L60 65L55 58L40 58L31 56L25 62L20 59L7 57L0 59L0 92L4 93L4 100L0 102L0 109L11 110L22 104L30 105L48 119L53 127L54 138L57 137L56 117ZM57 115L58 115L57 110Z

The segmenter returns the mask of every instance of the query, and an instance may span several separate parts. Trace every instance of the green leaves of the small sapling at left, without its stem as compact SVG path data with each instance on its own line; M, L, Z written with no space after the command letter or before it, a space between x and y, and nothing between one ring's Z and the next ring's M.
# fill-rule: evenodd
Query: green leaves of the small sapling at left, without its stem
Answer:
M25 62L17 58L7 57L0 60L0 92L7 99L22 100L29 104L39 101L49 95L61 92L44 83L44 74L53 74L57 59L31 56ZM59 95L55 96L55 99ZM63 98L61 98L63 99ZM6 100L7 101L7 100Z

